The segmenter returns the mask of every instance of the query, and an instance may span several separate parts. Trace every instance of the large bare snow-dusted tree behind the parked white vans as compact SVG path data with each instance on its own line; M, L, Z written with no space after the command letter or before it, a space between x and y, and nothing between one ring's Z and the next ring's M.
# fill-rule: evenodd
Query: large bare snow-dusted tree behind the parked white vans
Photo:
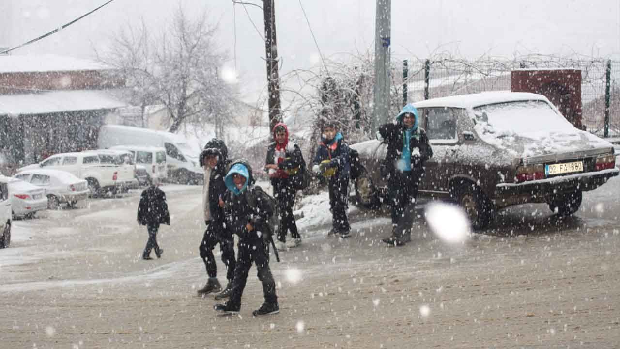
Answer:
M170 132L186 122L213 123L221 132L236 88L219 78L226 54L216 47L217 32L206 13L192 19L179 7L163 32L152 35L144 22L125 27L97 57L123 75L126 97L143 112L149 104L166 107Z

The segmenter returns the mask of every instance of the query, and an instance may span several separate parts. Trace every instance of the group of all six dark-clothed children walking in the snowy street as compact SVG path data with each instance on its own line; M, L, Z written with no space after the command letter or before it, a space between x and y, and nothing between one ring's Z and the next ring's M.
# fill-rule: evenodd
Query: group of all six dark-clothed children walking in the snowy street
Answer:
M392 234L382 241L391 246L402 246L410 241L418 184L423 176L423 164L432 156L428 138L419 125L415 107L407 104L394 123L381 125L379 134L387 143L387 155L382 175L390 188ZM311 170L327 179L332 229L329 237L347 238L351 227L348 222L348 189L351 173L350 149L338 131L336 122L325 119L321 125L322 137ZM279 312L275 281L269 268L269 247L277 250L294 248L301 243L301 235L293 216L293 204L299 181L303 181L306 166L301 148L289 139L285 124L272 130L274 142L268 146L264 170L271 180L272 200L260 186L254 185L252 167L246 161L229 161L228 149L222 140L214 138L206 143L200 154L200 165L205 171L203 185L203 214L206 230L200 243L200 257L205 263L208 281L198 289L204 296L216 293L215 299L228 299L216 304L215 310L238 314L247 276L254 263L263 286L265 301L254 310L254 316ZM151 259L154 249L157 258L163 250L157 245L159 224L170 224L166 195L154 183L141 195L138 207L139 224L147 225L149 240L143 258ZM276 202L274 207L273 201ZM279 212L278 231L273 232L270 220ZM286 241L287 232L291 238ZM234 253L236 234L237 256ZM276 235L277 242L273 241ZM222 289L217 278L213 248L219 243L221 258L226 266L226 287ZM277 251L274 251L277 253Z

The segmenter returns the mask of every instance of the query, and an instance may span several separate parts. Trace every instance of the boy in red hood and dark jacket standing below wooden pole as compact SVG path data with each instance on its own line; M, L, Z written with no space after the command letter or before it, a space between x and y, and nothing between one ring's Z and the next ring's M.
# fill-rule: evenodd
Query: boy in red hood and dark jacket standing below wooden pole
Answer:
M280 226L278 227L278 241L275 243L278 250L285 247L297 247L301 243L301 235L297 230L293 216L293 204L301 176L303 156L301 148L288 138L288 128L283 122L273 127L274 142L267 148L265 170L269 174L273 187L273 197L278 201L280 211ZM291 239L286 242L286 232L291 232Z

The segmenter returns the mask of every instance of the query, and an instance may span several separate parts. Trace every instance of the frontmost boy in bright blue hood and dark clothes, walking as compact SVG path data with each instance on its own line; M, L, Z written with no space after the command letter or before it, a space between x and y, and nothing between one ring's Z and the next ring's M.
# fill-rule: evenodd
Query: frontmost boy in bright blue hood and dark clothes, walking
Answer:
M221 204L224 205L229 226L239 235L239 243L231 295L226 304L216 304L214 309L239 314L247 274L254 263L263 286L265 302L252 314L260 316L280 312L275 281L269 268L269 242L273 233L269 224L273 216L271 199L259 186L254 186L252 167L246 161L233 163L224 182L228 193Z

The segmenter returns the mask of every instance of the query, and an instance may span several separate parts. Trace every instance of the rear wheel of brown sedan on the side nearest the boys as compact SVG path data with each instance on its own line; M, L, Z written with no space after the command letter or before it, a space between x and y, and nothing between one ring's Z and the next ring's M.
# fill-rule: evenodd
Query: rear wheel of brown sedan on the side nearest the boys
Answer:
M461 183L451 189L450 195L465 210L474 230L484 229L493 219L494 207L476 184Z

